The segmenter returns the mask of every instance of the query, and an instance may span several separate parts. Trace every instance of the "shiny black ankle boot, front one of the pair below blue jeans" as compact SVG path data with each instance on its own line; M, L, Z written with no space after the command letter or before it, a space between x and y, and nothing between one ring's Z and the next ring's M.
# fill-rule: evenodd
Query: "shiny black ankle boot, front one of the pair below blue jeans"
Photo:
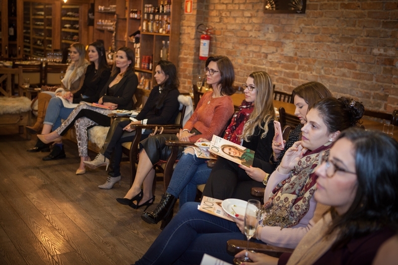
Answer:
M141 214L142 220L147 222L148 224L157 224L160 221L162 221L165 217L167 217L171 210L174 209L174 204L176 203L177 198L174 197L170 193L164 193L162 195L162 199L160 200L160 203L156 207L153 212L143 212Z

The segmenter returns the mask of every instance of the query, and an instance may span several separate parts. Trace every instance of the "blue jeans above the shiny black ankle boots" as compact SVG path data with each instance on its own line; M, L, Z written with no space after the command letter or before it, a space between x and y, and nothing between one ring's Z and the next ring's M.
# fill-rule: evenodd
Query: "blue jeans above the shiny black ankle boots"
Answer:
M174 169L166 192L180 197L180 208L187 201L194 201L198 184L204 184L210 176L211 169L205 163L207 159L183 153Z

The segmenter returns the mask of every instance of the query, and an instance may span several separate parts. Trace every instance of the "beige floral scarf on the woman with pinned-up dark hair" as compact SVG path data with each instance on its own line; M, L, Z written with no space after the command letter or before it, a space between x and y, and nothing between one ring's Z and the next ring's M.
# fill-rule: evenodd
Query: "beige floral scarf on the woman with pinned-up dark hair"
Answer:
M315 169L319 165L319 155L323 151L329 155L330 142L307 151L298 161L289 177L282 180L272 191L271 197L264 204L262 211L266 213L263 226L292 227L298 224L307 213L309 201L316 186Z

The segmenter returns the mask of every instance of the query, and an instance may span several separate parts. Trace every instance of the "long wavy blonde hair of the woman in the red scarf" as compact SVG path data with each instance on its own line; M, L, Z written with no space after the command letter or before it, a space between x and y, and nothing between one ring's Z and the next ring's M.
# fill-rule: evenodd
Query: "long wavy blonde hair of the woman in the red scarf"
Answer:
M254 109L246 121L243 129L241 139L249 142L249 137L254 134L256 127L264 130L261 138L264 138L268 133L268 123L271 120L276 120L274 103L273 103L273 88L271 77L264 71L253 72L249 75L253 78L254 86L256 87L256 99L254 100ZM264 127L261 125L264 123Z

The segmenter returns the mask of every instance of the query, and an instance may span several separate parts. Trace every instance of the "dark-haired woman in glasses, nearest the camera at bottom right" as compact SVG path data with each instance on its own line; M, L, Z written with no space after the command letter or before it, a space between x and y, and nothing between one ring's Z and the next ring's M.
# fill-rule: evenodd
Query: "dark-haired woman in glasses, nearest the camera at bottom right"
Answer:
M330 211L279 260L248 253L261 265L371 265L398 223L398 143L386 134L348 129L322 156L314 198ZM397 242L397 237L392 238ZM387 243L389 244L389 243ZM391 243L390 243L391 244ZM380 253L383 251L380 249ZM390 255L397 253L390 249ZM374 265L397 264L378 254ZM245 252L236 257L243 257ZM387 258L387 259L383 259ZM247 263L252 264L252 263Z

